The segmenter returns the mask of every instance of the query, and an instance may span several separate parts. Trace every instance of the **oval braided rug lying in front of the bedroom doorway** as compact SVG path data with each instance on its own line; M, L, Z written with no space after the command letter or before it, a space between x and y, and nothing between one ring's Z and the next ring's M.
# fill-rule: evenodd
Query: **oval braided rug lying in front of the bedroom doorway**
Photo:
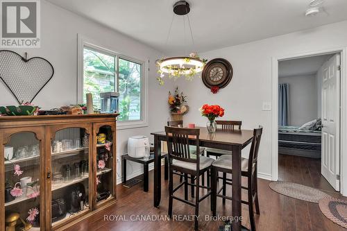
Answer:
M279 194L296 198L299 200L305 200L312 203L319 203L319 200L325 197L330 197L328 194L323 193L319 189L314 189L312 187L307 187L305 185L300 185L291 182L276 181L271 182L269 187L278 192Z

